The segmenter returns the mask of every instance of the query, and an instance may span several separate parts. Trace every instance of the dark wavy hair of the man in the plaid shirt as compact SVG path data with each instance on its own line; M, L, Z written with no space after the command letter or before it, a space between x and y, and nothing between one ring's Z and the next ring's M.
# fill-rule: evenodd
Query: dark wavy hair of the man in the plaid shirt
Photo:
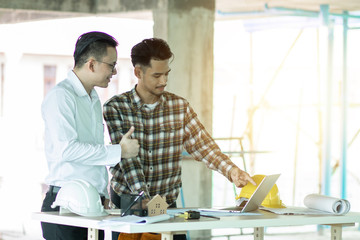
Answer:
M173 57L169 45L160 38L148 38L142 40L131 49L131 62L150 66L150 60L167 60Z

